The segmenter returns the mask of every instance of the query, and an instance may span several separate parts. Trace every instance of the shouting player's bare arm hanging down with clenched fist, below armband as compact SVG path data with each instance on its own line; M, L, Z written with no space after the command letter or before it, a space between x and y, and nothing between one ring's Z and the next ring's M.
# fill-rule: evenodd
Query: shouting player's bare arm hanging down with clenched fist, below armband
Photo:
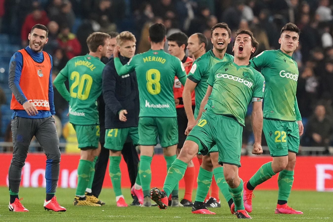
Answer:
M254 135L253 154L262 154L261 132L262 132L262 102L253 102L251 124Z

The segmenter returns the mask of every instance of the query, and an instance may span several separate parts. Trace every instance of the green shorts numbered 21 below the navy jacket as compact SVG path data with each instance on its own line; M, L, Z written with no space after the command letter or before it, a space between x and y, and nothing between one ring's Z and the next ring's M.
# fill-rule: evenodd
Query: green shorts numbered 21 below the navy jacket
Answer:
M105 143L104 147L113 150L122 150L126 139L130 137L133 145L139 144L139 131L138 127L126 127L119 129L106 129L105 130Z

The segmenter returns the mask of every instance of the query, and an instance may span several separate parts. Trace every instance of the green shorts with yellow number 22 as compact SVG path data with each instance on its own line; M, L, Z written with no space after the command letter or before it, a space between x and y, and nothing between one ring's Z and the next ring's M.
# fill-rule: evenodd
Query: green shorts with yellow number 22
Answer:
M298 153L299 132L297 121L264 118L262 130L271 156L287 156L288 151Z

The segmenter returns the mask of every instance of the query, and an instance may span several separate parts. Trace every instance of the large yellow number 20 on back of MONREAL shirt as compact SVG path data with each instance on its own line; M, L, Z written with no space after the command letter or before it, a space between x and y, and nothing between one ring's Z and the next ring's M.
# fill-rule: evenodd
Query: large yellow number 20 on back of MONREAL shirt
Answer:
M71 80L74 80L70 87L70 95L73 98L79 98L80 100L86 100L89 97L91 85L93 84L93 78L88 74L83 74L80 78L80 74L76 71L71 73ZM77 89L77 93L74 90Z

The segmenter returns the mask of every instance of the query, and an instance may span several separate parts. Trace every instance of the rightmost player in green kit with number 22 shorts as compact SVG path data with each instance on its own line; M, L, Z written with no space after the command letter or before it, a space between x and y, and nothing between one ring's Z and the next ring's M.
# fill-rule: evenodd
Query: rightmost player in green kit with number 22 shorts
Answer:
M279 50L268 50L251 60L251 66L261 69L266 79L263 108L263 131L273 161L263 164L244 183L244 206L252 211L253 189L279 172L279 187L275 213L303 214L287 205L294 181L299 136L303 134L301 114L296 99L298 80L297 63L291 58L298 46L300 30L293 23L281 29Z

